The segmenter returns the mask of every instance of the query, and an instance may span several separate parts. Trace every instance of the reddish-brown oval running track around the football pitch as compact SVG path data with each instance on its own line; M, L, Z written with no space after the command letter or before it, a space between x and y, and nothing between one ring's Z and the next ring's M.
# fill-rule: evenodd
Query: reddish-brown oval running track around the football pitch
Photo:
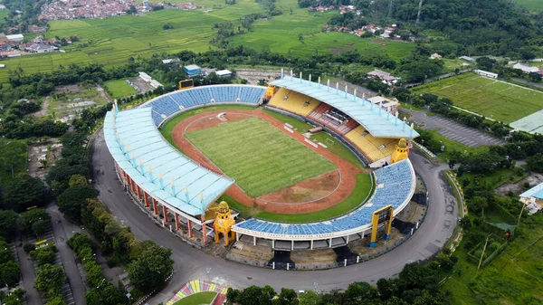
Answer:
M198 149L196 149L190 143L190 141L188 141L185 138L186 130L189 130L188 128L195 130L196 127L193 127L193 123L196 124L198 120L204 121L202 123L197 123L197 124L202 124L202 125L195 125L195 126L200 126L201 128L203 128L203 126L211 127L220 123L224 123L224 121L221 121L219 119L213 119L217 114L222 113L222 112L226 112L225 117L228 118L230 121L232 121L233 119L239 120L243 117L246 118L247 116L259 117L261 119L265 119L271 125L275 126L277 129L280 129L282 132L284 132L286 135L289 135L291 138L298 140L301 144L305 145L307 148L312 149L313 151L319 153L319 155L321 155L322 157L325 157L329 159L329 161L336 164L336 166L338 167L338 170L336 172L340 172L341 174L340 184L335 189L335 191L333 191L328 196L311 203L303 203L303 202L307 202L307 200L304 200L302 203L298 203L298 204L295 204L295 202L289 202L288 204L266 202L260 198L253 198L247 195L245 192L243 192L243 189L241 189L237 185L231 186L226 191L226 194L233 197L234 200L238 201L242 205L257 208L259 210L270 212L270 213L304 214L304 213L317 212L317 211L329 208L330 206L337 205L338 203L345 200L348 197L348 195L350 195L354 191L355 186L357 185L357 174L362 172L360 168L353 166L348 161L344 160L341 157L338 157L337 155L330 152L326 148L321 148L321 147L315 148L311 146L310 144L304 141L304 137L300 133L295 132L291 134L290 132L286 131L285 129L282 128L284 125L283 122L264 113L261 109L215 110L215 111L205 112L205 113L190 117L188 119L185 119L181 123L177 124L176 128L172 132L172 138L174 139L174 142L176 143L177 147L183 148L183 151L186 153L186 156L192 158L195 162L202 165L203 167L209 168L210 170L217 173L222 173L220 168L216 167L207 157L205 157L204 154L202 154ZM333 176L328 176L328 177L331 179L330 181L333 181ZM306 182L308 184L304 185L304 183ZM307 188L309 186L309 183L310 182L308 181L301 182L300 184L302 184L303 186L301 188ZM289 191L291 191L292 193L294 193L295 191L297 191L296 186L299 186L300 184L287 187L281 190L281 192L284 191L285 193L288 193ZM331 185L330 182L326 182L322 184ZM329 188L329 186L327 187ZM289 188L291 188L291 190L289 190ZM300 191L300 189L298 191Z

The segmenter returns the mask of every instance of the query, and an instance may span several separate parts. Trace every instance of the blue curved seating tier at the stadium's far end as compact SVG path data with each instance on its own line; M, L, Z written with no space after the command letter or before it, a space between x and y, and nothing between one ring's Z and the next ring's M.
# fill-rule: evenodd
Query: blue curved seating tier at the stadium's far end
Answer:
M218 85L203 86L184 91L175 91L149 101L143 107L152 108L152 117L155 125L164 119L186 108L209 104L214 102L244 102L257 104L266 91L264 87Z

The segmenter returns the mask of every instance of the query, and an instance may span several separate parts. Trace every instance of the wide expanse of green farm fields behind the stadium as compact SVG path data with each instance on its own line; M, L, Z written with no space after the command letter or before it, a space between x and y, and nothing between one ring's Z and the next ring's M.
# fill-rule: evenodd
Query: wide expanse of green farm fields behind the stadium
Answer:
M174 1L176 2L176 1ZM107 19L52 21L46 38L55 36L81 36L81 42L62 47L65 52L22 56L3 61L6 68L0 71L0 83L6 82L8 71L22 68L26 73L52 71L71 63L101 63L105 66L125 64L129 57L150 57L152 54L175 53L182 50L205 52L214 48L209 41L214 38L214 24L233 22L244 14L262 13L262 7L252 0L238 0L235 5L224 5L224 1L203 0L195 4L212 8L194 11L161 10L145 16L126 15ZM348 33L320 33L323 24L338 12L310 13L298 8L295 0L278 0L275 5L283 14L271 20L260 20L253 24L250 33L235 35L233 45L244 45L256 50L268 47L272 52L292 55L338 53L349 49L359 52L386 52L394 59L405 57L414 48L414 43L385 42L378 38L358 38ZM292 10L292 13L291 13ZM164 24L174 28L164 30ZM298 40L298 34L304 36ZM372 41L376 42L372 42Z

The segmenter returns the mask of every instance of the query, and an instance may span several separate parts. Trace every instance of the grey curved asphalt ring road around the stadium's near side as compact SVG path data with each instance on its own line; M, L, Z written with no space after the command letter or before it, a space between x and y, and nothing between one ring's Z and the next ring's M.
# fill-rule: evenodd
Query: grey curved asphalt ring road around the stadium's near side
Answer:
M412 238L374 260L327 271L277 271L227 262L220 257L206 254L180 241L173 234L158 227L129 199L115 174L113 158L104 142L103 132L97 135L92 147L92 165L95 186L100 190L100 201L108 205L111 213L122 224L129 225L140 240L150 239L172 249L175 261L174 276L168 287L148 300L149 304L166 302L187 281L211 280L218 284L243 288L250 285L270 284L276 290L289 287L294 290L319 291L345 289L353 281L376 283L380 278L393 277L401 272L405 263L425 260L443 247L456 226L457 207L450 186L440 172L446 166L436 167L412 151L411 161L424 179L429 192L429 209L424 223ZM211 268L209 274L205 271Z

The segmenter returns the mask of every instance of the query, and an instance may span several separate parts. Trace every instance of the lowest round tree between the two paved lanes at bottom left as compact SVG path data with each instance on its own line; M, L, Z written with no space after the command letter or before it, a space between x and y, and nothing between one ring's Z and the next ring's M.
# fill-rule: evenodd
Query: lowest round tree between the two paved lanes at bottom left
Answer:
M62 285L65 281L66 274L61 266L46 263L36 272L34 288L45 298L52 299L62 295Z

